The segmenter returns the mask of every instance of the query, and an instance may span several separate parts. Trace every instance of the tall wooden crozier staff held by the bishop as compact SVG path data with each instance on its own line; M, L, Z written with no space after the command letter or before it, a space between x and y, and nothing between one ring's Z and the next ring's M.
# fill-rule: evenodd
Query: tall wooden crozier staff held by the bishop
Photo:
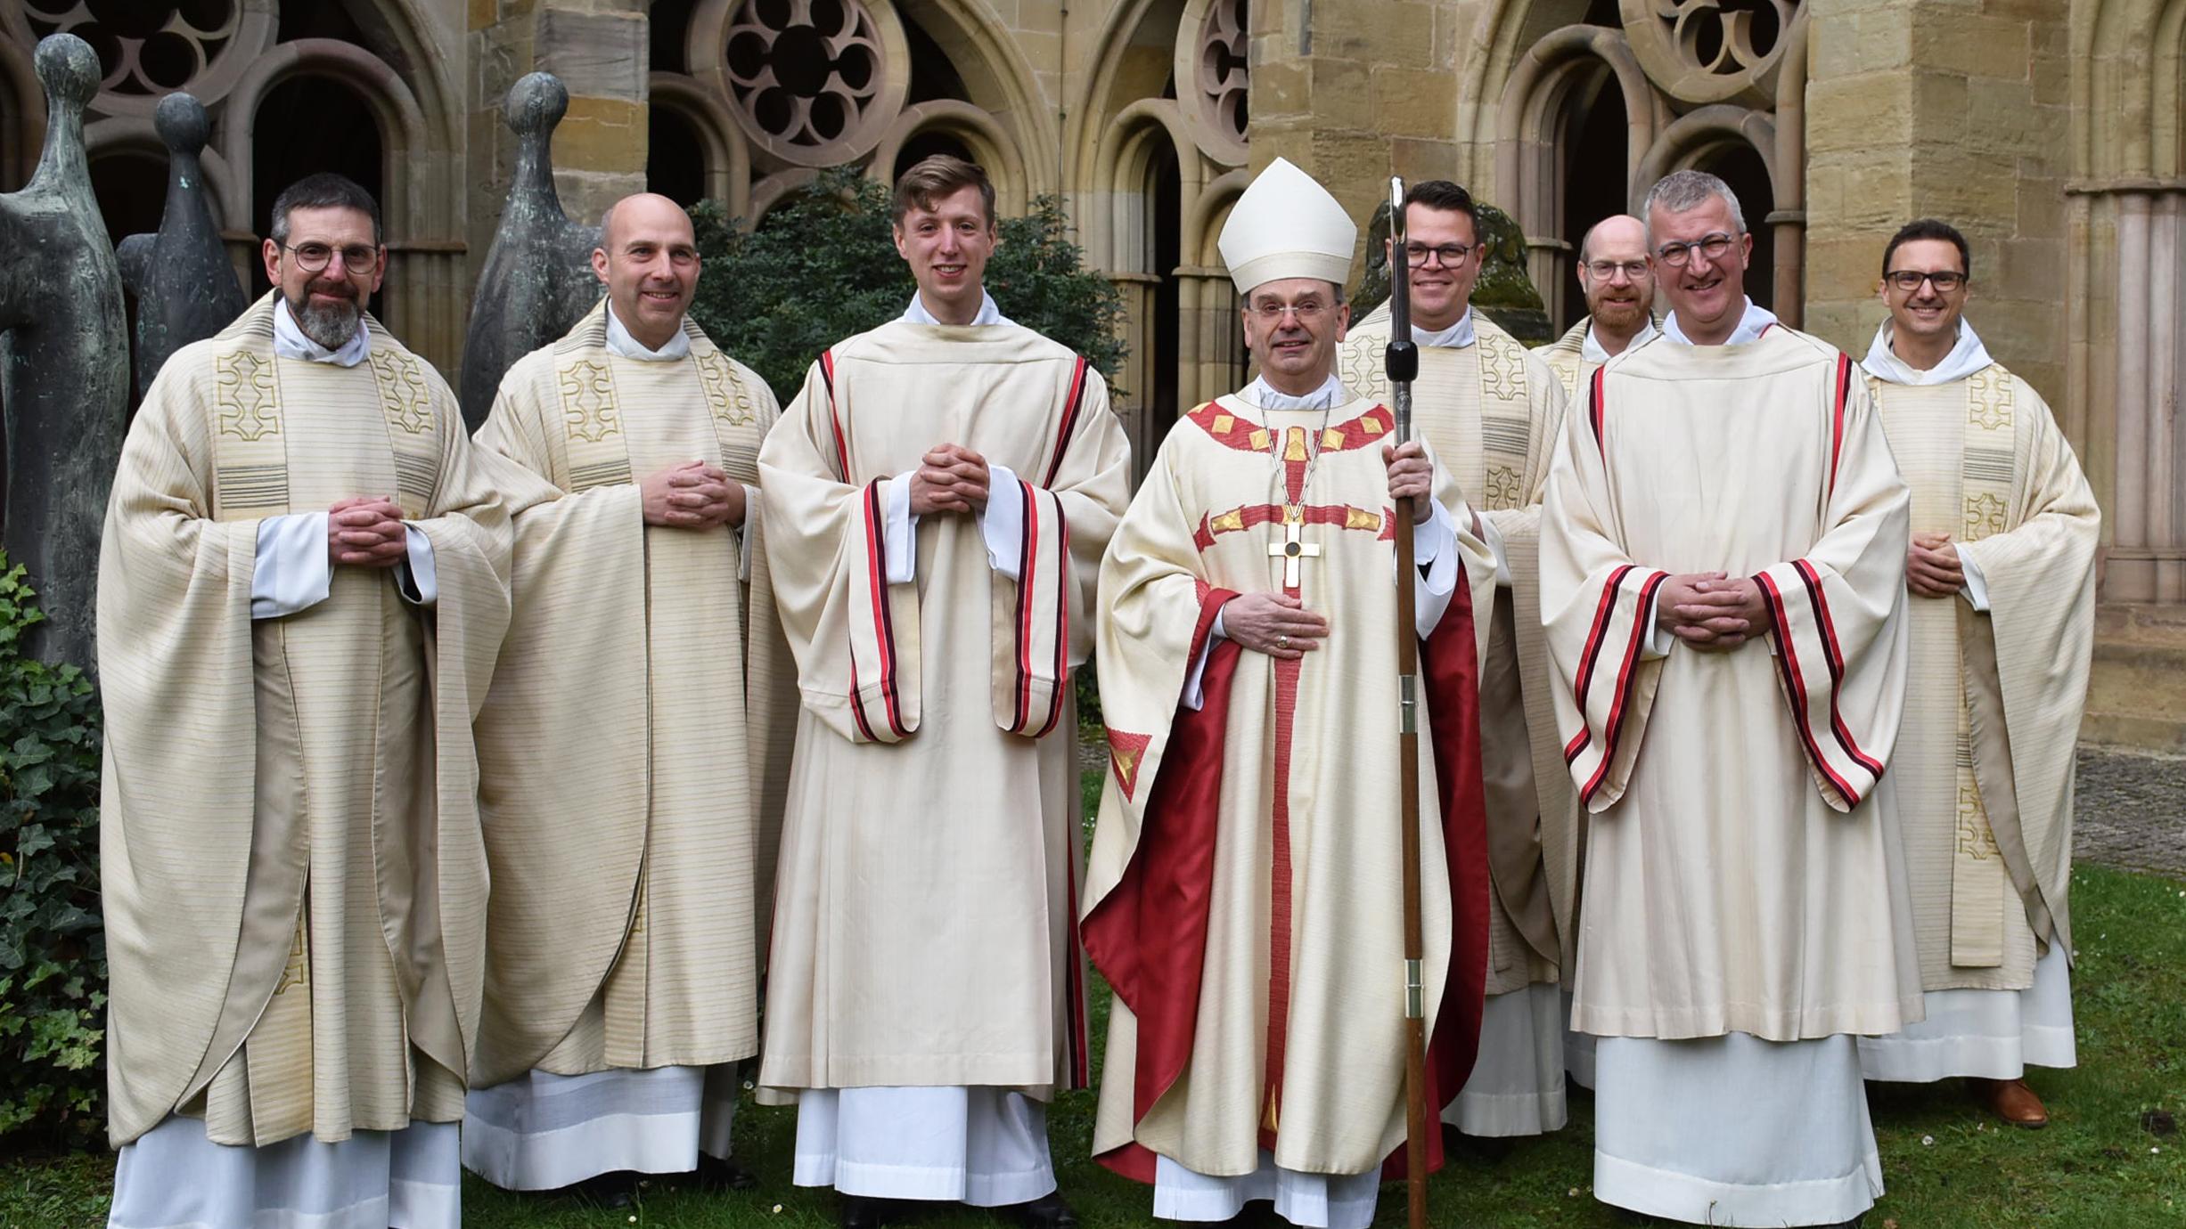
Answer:
M1412 439L1412 264L1403 253L1403 177L1388 181L1388 369L1397 448ZM1403 1185L1412 1229L1427 1229L1427 943L1419 921L1419 622L1412 585L1412 498L1397 502L1397 799L1403 830Z

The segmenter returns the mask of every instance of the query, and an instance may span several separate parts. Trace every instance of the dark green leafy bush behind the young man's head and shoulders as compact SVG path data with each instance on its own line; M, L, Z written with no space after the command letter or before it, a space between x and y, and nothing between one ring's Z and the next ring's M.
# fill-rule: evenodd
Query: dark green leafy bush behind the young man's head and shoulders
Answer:
M837 341L903 314L916 284L896 255L890 190L842 166L767 214L761 229L730 220L719 201L691 218L706 260L691 319L745 362L787 406L804 371ZM1084 354L1104 375L1124 365L1124 297L1084 266L1054 196L1001 218L986 288L1001 314Z

